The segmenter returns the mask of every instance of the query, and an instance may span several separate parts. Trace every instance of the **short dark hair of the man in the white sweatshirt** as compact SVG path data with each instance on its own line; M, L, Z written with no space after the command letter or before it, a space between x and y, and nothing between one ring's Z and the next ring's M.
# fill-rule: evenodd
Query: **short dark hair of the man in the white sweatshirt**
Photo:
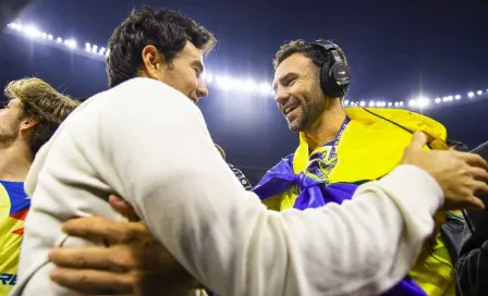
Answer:
M120 24L109 39L107 75L109 87L134 78L143 65L142 51L155 46L171 64L186 41L196 48L210 52L216 38L195 21L170 10L155 11L149 7L134 10Z

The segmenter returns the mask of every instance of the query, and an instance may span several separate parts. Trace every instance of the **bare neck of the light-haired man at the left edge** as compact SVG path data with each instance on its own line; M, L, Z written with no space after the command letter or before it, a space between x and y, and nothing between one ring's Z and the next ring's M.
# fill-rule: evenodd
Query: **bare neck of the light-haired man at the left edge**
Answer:
M0 180L24 182L33 161L30 149L25 144L0 147Z

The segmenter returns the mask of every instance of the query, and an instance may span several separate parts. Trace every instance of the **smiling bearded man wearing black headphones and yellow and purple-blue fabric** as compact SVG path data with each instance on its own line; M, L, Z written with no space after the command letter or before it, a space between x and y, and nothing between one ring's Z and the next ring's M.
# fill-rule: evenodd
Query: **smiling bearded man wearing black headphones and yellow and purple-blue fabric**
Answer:
M446 128L424 115L344 109L351 72L344 52L331 41L291 41L277 52L274 70L274 100L290 130L298 133L300 145L254 189L269 209L303 210L350 199L359 184L382 177L399 163L414 132L429 135L431 148L448 148ZM454 276L436 233L408 276L387 295L454 295Z

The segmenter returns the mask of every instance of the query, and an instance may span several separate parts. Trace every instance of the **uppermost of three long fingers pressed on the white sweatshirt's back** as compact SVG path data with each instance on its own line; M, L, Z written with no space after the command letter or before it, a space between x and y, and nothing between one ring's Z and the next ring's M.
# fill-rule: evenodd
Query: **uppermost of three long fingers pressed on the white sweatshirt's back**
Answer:
M137 233L144 231L145 226L142 223L113 222L101 217L85 217L64 222L62 230L69 235L90 242L120 244L136 239Z

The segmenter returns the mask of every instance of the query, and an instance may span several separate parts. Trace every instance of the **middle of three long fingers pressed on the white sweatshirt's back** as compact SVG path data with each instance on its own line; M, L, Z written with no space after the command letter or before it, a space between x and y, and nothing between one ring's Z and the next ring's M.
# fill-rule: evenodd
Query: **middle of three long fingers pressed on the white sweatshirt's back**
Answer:
M61 268L124 271L137 263L129 248L62 247L49 251L49 260Z

